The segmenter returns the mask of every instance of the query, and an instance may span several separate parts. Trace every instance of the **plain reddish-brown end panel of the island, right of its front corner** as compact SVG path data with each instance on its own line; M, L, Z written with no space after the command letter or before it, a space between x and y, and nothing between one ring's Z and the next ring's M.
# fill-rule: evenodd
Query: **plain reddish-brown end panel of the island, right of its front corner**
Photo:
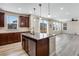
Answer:
M49 55L49 38L44 38L37 41L36 45L37 56L48 56Z

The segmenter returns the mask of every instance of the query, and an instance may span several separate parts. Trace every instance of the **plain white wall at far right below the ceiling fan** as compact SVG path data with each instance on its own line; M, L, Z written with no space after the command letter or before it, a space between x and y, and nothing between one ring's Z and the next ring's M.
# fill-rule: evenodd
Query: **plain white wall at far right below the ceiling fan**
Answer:
M79 21L67 22L67 30L64 32L70 34L79 34Z

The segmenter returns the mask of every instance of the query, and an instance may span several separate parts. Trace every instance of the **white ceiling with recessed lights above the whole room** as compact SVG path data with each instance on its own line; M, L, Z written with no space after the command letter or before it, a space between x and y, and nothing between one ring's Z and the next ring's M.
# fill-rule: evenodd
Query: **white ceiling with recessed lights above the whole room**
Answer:
M38 3L0 3L0 8L24 14L40 15ZM69 21L72 18L79 18L79 3L50 3L50 18L59 21ZM48 17L48 4L42 3L41 16Z

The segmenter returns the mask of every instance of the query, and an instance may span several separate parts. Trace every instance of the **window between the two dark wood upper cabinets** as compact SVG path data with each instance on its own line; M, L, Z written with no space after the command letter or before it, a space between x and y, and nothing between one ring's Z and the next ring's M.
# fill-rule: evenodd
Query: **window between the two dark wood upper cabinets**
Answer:
M17 29L17 17L7 16L8 29Z

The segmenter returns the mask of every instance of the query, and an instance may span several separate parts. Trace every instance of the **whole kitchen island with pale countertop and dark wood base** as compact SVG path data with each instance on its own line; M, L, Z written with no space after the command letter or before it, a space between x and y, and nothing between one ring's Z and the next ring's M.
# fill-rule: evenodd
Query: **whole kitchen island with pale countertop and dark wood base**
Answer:
M53 38L50 39L50 37ZM53 40L54 43L50 40ZM50 42L53 44L50 44ZM55 51L55 36L45 33L34 35L22 33L22 47L30 56L49 56L51 52Z

